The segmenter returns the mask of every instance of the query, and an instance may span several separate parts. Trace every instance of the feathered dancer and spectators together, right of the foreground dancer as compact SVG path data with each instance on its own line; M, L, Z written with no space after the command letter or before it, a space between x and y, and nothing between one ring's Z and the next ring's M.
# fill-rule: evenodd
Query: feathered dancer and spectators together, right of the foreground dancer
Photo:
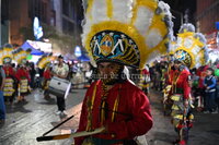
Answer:
M191 44L186 44L188 39ZM195 33L192 24L181 27L174 43L173 50L166 58L160 62L154 61L151 68L146 67L146 72L142 72L145 81L141 84L145 84L142 88L147 93L151 86L163 94L161 102L164 116L171 117L178 134L174 144L185 145L188 143L188 131L193 126L194 110L218 113L219 61L212 63L209 60L205 37Z

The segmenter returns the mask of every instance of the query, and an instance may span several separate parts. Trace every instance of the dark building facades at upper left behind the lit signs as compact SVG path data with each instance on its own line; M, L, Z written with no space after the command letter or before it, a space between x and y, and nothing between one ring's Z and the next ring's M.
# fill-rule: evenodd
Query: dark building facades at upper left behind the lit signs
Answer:
M83 19L81 1L1 0L1 44L10 43L19 47L26 39L34 40L33 21L34 17L38 17L43 31L53 28L56 35L72 37L74 44L81 45L80 34ZM50 32L44 33L49 39Z

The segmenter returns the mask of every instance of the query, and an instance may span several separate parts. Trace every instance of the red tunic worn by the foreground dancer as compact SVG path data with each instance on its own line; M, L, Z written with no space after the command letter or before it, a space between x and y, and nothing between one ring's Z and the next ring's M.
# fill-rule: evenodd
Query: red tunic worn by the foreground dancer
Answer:
M101 96L103 94L103 84L101 81L97 81L94 82L87 92L83 100L78 132L85 131L87 129L88 108L85 102L88 97L92 97L95 84L97 84L97 86L92 111L92 126L93 129L102 126L100 121L100 106ZM104 140L134 138L135 136L147 133L152 128L149 100L138 87L128 81L123 84L115 84L114 87L110 89L107 95L106 101L108 104L108 110L113 110L115 100L118 96L120 98L117 111L124 114L116 113L115 121L112 122L112 111L108 111L108 118L103 122L103 124L108 126L108 133L96 134L94 137ZM83 140L83 137L76 138L76 145L81 145Z

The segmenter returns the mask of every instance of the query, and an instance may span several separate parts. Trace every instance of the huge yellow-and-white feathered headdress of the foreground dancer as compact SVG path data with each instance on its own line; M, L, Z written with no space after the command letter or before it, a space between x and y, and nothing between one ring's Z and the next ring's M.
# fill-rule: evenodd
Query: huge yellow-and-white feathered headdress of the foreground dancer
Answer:
M170 7L157 0L83 1L82 43L95 60L143 68L168 51Z

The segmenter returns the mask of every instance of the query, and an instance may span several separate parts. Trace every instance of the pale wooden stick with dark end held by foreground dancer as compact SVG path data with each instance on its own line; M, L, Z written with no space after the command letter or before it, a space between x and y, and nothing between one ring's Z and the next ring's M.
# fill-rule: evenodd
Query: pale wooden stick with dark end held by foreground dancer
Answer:
M64 138L69 138L69 137L82 137L82 136L94 135L94 134L101 133L103 131L105 131L104 126L95 129L92 132L83 131L83 132L77 132L77 133L72 133L72 134L60 134L60 135L41 136L41 137L37 137L36 141L37 142L43 142L43 141L53 141L53 140L64 140Z

